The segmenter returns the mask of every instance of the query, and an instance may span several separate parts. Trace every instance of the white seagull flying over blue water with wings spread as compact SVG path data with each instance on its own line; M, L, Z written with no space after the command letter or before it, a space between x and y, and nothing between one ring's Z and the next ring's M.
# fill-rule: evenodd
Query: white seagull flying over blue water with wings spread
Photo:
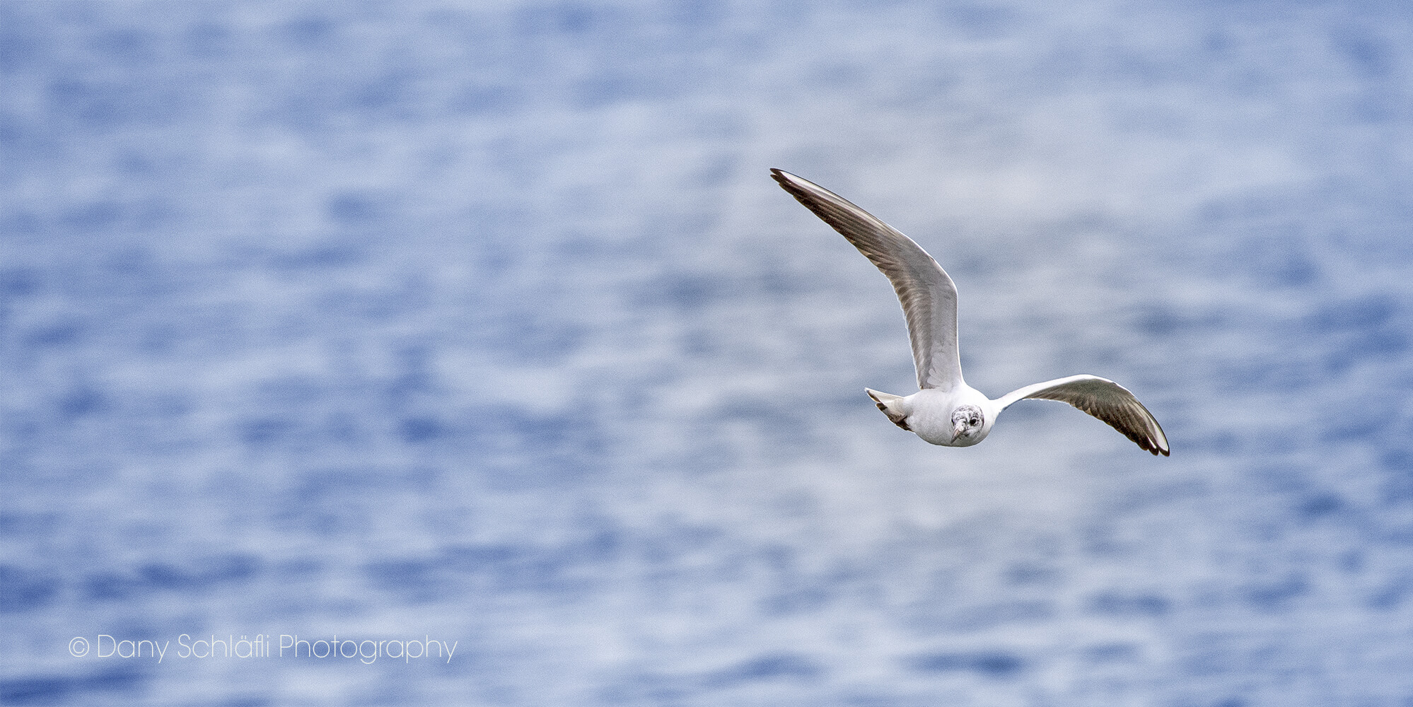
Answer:
M839 231L893 284L907 318L918 391L911 395L863 388L894 425L923 440L969 447L986 439L996 416L1017 401L1068 402L1099 418L1154 456L1169 456L1153 413L1122 385L1098 375L1068 375L986 398L962 380L957 347L957 285L913 238L842 196L781 169L770 175L800 203Z

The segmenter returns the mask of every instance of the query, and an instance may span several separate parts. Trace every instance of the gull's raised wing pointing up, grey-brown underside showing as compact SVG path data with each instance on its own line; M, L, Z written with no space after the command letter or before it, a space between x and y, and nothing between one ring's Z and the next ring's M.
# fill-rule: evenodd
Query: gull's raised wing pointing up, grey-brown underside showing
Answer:
M947 391L961 384L957 285L947 271L911 238L842 196L790 172L770 175L887 275L907 318L917 387Z

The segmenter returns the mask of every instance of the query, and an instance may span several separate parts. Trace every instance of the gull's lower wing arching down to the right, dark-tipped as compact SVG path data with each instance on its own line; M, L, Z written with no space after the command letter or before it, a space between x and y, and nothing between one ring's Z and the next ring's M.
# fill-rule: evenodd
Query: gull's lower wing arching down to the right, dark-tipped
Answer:
M1067 378L1026 385L998 398L998 412L1024 398L1068 402L1102 419L1154 456L1169 456L1167 436L1163 435L1163 428L1153 419L1153 413L1125 387L1108 378L1099 378L1098 375L1070 375Z

